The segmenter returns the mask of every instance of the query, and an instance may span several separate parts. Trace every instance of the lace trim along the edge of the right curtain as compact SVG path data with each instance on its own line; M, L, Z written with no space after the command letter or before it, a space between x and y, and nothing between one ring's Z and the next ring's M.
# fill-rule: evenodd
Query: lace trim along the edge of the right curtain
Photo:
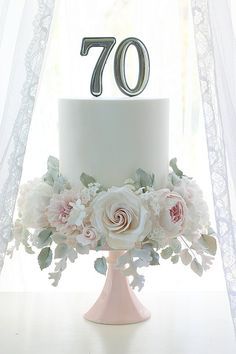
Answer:
M217 100L208 1L192 0L192 13L217 234L221 247L231 313L236 329L236 230L234 228L230 207L222 122Z

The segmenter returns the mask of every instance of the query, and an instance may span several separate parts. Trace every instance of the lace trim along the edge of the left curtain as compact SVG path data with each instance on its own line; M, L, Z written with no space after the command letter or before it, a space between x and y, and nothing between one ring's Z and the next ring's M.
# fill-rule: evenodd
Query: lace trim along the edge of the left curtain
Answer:
M33 21L33 38L25 56L26 78L21 93L21 106L9 144L12 153L7 161L8 176L0 193L0 271L8 241L11 239L13 213L54 5L55 0L38 0L38 12Z

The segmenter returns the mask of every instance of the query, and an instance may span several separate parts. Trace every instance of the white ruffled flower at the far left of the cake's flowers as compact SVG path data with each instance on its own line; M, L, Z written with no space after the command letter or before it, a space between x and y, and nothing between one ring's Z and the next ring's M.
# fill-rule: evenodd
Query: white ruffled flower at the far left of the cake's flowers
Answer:
M46 209L53 189L41 179L22 185L18 199L19 216L25 227L44 228L49 226Z

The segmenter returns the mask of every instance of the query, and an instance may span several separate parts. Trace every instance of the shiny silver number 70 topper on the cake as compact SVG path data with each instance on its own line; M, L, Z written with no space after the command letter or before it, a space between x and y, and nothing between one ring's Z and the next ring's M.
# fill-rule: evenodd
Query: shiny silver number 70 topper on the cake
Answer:
M90 91L93 96L102 94L102 74L107 59L116 43L114 37L85 37L82 40L81 52L82 56L88 54L92 47L103 47L103 50L94 67ZM139 59L139 74L137 84L134 88L130 88L125 75L125 57L130 45L137 49ZM137 96L145 89L150 74L150 59L147 48L144 43L134 37L124 39L118 46L114 58L114 75L118 88L128 96Z

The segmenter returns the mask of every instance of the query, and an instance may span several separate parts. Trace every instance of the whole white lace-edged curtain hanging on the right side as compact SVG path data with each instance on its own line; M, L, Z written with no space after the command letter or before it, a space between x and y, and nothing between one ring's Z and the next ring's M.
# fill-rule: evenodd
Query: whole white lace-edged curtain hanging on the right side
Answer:
M235 3L192 1L217 234L236 328Z

